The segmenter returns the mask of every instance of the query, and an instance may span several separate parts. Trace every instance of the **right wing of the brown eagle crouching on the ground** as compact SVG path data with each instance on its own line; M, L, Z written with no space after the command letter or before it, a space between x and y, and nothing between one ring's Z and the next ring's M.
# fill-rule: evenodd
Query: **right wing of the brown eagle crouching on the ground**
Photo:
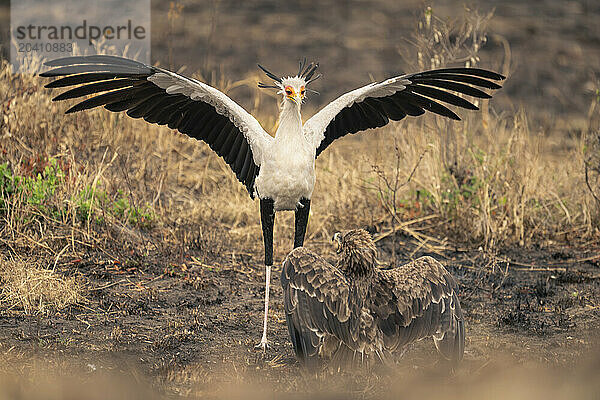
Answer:
M421 257L391 270L380 270L372 314L390 350L433 336L444 357L462 359L465 326L458 285L442 264Z

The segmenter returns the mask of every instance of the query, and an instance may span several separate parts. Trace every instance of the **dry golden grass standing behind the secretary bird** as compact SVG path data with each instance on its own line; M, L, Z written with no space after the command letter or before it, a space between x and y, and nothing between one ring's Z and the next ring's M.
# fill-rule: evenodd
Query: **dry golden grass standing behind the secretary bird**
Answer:
M437 58L421 53L420 67L478 61L489 16L467 15L454 29L425 13L416 51L432 40L445 50ZM254 87L256 79L214 84L227 92ZM3 252L34 253L46 266L64 266L90 252L162 263L181 261L201 243L207 259L249 254L260 264L258 202L208 146L102 109L65 116L66 106L51 102L44 83L1 67L0 164L31 179L52 162L62 173L37 204L28 191L0 193ZM269 129L274 103L258 90L255 96L252 111ZM496 115L487 102L479 105L484 112L461 112L461 122L422 117L338 141L317 160L307 244L325 249L336 230L359 226L384 236L403 231L432 251L595 240L598 203L585 183L585 139L547 137L532 131L525 111ZM590 120L597 113L591 108ZM90 188L82 207L82 193ZM119 202L126 206L115 212ZM147 210L149 223L140 223L140 210ZM276 260L290 250L292 229L293 214L278 214ZM21 264L4 265L6 271ZM60 282L66 288L73 281ZM27 300L27 307L39 298Z

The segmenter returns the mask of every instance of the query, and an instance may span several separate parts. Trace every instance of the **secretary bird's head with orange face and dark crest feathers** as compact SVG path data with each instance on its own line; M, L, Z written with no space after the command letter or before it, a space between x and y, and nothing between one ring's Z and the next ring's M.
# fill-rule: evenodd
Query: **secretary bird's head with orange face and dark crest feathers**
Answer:
M319 63L311 62L306 65L306 59L304 59L304 61L300 62L298 74L296 74L296 76L288 76L287 78L278 77L260 64L258 67L262 69L269 78L273 79L273 84L259 82L258 87L261 89L279 89L277 94L283 95L284 102L289 101L300 106L306 99L307 92L318 94L318 92L308 89L307 86L321 77L321 74L315 75L317 68L319 68Z

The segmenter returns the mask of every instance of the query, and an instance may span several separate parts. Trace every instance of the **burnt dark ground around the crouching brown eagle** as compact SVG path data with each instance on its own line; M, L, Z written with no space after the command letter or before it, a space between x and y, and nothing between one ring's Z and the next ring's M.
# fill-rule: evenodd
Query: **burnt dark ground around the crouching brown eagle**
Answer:
M386 240L378 243L384 257L389 256ZM403 245L400 260L406 261L413 250ZM207 254L191 249L183 256L174 252L145 261L134 254L115 263L90 253L59 264L63 273L87 281L86 301L43 316L4 310L2 349L25 359L69 360L82 374L138 371L167 393L197 384L174 378L189 368L236 371L293 390L300 371L285 327L280 265L272 282L271 348L263 356L253 348L263 310L260 252L235 262L230 256ZM482 251L429 254L442 260L461 284L468 324L463 371L479 371L507 356L517 364L570 368L588 356L600 329L597 254L597 249L557 246L515 248L494 256ZM586 258L591 259L575 261ZM427 371L432 359L435 349L427 340L398 363Z

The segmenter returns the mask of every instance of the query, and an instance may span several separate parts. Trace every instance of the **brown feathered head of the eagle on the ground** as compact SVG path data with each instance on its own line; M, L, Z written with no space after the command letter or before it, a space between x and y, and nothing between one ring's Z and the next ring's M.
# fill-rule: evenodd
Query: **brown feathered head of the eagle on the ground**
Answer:
M333 241L340 255L338 267L353 274L371 274L377 263L377 248L371 235L364 229L336 232Z

